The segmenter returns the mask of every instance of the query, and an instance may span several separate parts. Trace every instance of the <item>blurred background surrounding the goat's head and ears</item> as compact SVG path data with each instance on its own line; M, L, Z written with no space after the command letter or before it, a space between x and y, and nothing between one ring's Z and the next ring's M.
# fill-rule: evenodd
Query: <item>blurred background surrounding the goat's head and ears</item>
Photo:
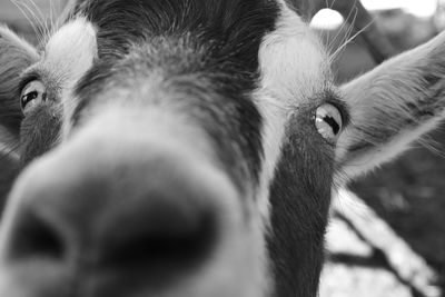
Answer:
M67 2L0 1L0 21L32 43L39 41L39 28L55 21ZM445 0L362 3L372 11L394 55L445 29ZM339 83L376 66L363 37L355 36L338 12L319 11L312 27L328 48L343 49L333 66ZM349 185L352 192L334 197L322 297L445 296L444 128L415 143L403 158ZM14 170L7 160L1 162L0 184L6 184ZM0 197L7 190L0 189Z

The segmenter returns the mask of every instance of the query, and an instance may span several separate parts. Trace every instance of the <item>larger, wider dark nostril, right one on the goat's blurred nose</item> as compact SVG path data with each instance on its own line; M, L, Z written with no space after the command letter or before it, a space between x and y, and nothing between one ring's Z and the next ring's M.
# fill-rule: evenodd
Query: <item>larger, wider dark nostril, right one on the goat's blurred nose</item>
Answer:
M120 221L105 242L103 265L117 269L178 271L201 263L215 241L215 218L205 211L158 206L139 219Z

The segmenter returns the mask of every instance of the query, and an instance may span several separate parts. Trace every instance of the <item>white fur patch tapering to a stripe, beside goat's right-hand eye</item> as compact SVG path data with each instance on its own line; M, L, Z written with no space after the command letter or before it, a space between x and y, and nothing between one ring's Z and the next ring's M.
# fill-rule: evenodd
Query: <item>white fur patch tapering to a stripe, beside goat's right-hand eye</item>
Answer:
M265 227L269 224L269 187L280 158L286 123L298 106L309 102L325 86L327 55L309 27L289 8L283 9L274 32L259 49L260 89L255 96L264 118L265 165L258 204Z

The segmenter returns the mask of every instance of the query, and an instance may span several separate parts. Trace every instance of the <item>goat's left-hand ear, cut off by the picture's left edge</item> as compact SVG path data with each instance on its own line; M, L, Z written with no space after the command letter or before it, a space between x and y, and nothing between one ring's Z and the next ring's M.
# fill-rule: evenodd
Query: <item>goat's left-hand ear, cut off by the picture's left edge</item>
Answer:
M22 113L19 102L20 75L38 60L36 49L0 26L0 150L13 152Z

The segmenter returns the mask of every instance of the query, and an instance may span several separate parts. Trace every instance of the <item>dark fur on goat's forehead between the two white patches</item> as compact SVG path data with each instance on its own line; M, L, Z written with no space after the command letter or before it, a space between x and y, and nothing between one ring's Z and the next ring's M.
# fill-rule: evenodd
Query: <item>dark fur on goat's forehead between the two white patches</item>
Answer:
M150 83L149 73L132 69L162 69L168 85L189 100L187 112L199 118L234 180L257 179L261 119L250 93L257 87L259 44L275 28L274 1L92 1L79 13L99 28L101 62L79 86L75 122L107 81L130 75L147 76Z

